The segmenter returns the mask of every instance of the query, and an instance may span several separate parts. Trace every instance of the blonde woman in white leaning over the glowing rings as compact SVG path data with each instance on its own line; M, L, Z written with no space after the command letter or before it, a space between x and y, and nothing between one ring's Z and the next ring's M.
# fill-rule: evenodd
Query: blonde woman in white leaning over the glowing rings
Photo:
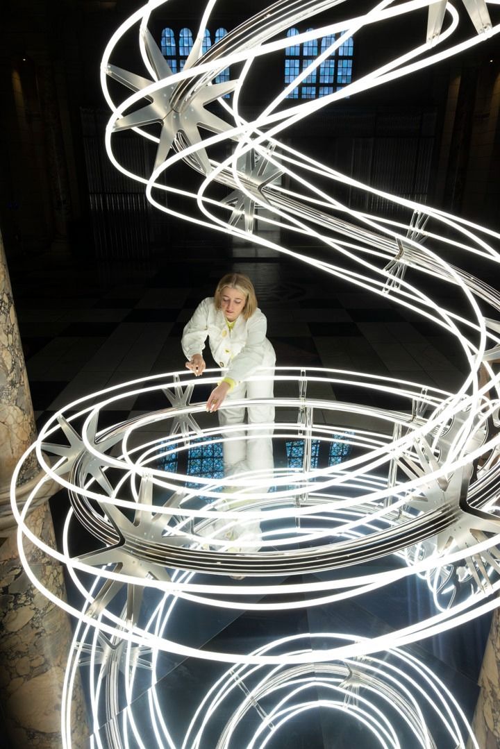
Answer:
M205 371L202 351L208 337L214 360L225 369L223 380L214 388L207 401L208 411L217 411L222 427L244 423L244 406L232 406L240 398L272 398L276 355L265 337L267 321L257 307L252 282L242 273L228 273L217 284L214 297L204 299L184 327L182 350L186 367L196 377ZM251 375L266 368L265 377L247 381ZM223 404L223 408L220 408ZM272 402L249 404L249 425L274 422ZM230 438L223 445L226 476L244 470L273 470L271 428L227 431ZM235 439L238 437L238 439Z

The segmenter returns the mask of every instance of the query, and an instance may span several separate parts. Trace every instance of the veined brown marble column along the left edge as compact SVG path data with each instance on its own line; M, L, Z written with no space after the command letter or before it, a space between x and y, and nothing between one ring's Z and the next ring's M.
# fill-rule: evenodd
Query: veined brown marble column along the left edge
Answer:
M0 700L11 749L61 747L61 694L70 648L67 614L31 585L19 561L16 524L10 511L10 479L17 461L36 437L31 395L19 339L16 312L0 236ZM19 475L20 503L40 478L34 459ZM55 545L46 500L55 486L46 483L27 524L48 545ZM25 545L38 579L64 598L64 578L38 548ZM73 749L88 746L85 704L76 685L73 700Z

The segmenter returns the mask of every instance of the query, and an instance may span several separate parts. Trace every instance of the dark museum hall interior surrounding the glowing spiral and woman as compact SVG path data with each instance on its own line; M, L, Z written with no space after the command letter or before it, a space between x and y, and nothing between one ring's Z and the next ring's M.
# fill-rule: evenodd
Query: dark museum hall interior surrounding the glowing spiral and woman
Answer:
M457 3L463 29L457 33L469 36L471 20L464 3ZM210 28L213 33L219 28L231 31L266 4L263 0L219 0L211 12ZM313 19L305 18L298 30L326 25L372 7L365 0L354 6L342 2L331 5ZM172 29L175 38L181 29L196 30L204 7L203 3L179 0L157 7L149 30L158 46L166 28ZM423 321L411 309L369 294L345 278L326 275L319 263L304 266L298 258L155 210L144 185L115 169L104 146L110 112L100 87L100 60L115 29L138 8L139 3L133 0L4 0L1 5L0 230L6 262L2 272L7 281L10 277L37 428L58 409L91 392L183 369L184 325L199 300L212 296L217 281L229 272L252 279L259 307L268 320L267 335L278 366L372 372L423 386L458 389L467 362L431 321ZM375 65L424 43L426 28L427 7L416 10L410 24L402 16L381 23L376 32L361 28L351 52L352 79L361 79ZM115 64L145 75L136 28L127 32L117 50ZM241 94L241 112L247 120L257 118L265 103L282 90L283 60L283 49L256 59ZM231 76L238 77L240 72L241 67L235 65ZM122 89L111 82L110 90L117 96ZM285 106L293 104L293 99L285 100ZM375 85L319 109L278 137L350 178L500 231L497 37L417 70L411 78ZM128 169L142 175L151 173L154 145L147 139L126 130L117 140L117 149ZM223 147L220 151L222 154ZM170 176L172 184L195 192L198 189L199 175L189 172L183 163L173 166ZM324 187L332 189L326 183ZM335 198L349 209L397 219L394 204L379 195L367 196L345 184L334 189ZM196 204L182 195L172 195L172 206L187 213L196 210ZM255 231L260 230L257 222ZM298 235L286 228L265 231L278 244L322 258L322 251L307 234L298 243ZM449 249L447 260L454 263L454 249ZM460 258L460 267L465 262L469 263L466 271L498 286L499 273L495 277L492 264L469 257L466 261ZM432 277L426 283L428 293L442 293ZM450 309L460 303L459 297L445 301ZM0 330L0 336L3 334ZM10 397L8 383L0 380L0 386L5 386L7 393L2 398ZM334 399L358 397L354 385L332 387ZM201 392L207 397L208 390L205 396L205 391ZM393 402L388 394L367 394L368 406L380 404L397 408L397 397ZM103 411L100 425L124 422L156 407L153 395L124 399L119 407ZM0 441L7 445L8 424L4 431L2 422L0 419ZM275 458L286 464L289 456L283 447L276 447ZM11 475L12 469L1 468L1 491L8 491ZM7 501L0 505L2 518L10 512ZM60 542L67 512L64 491L54 494L47 506ZM32 609L40 593L28 595L22 589L24 578L13 551L12 527L9 533L4 533L0 546L4 550L0 744L6 749L59 747L62 744L54 720L58 720L61 698L52 694L49 682L52 676L60 682L66 655L59 652L58 632L52 631L58 626L53 622L52 630L48 627L45 634L42 622L42 634L36 635L37 649L57 651L52 656L40 656L40 664L34 663L29 655L31 646L22 643L21 625L13 623L17 622L13 610L22 606ZM88 543L85 536L73 539L73 553L88 551ZM21 594L25 598L16 603L15 596ZM76 595L68 580L67 595ZM366 610L346 604L337 616L346 631L360 616L366 617L367 628L388 631L406 625L412 620L412 611L427 605L419 595L408 583L401 586L397 600L374 595ZM313 612L283 614L280 622L283 631L292 634L322 631L331 625L330 616L329 610L317 607ZM37 616L33 626L35 619ZM338 622L335 625L339 626ZM196 627L192 622L189 626L195 642ZM235 639L253 649L267 626L265 615L258 611L241 619L233 616L224 624L214 619L207 624L211 631L208 640L224 647L225 640ZM490 652L487 666L483 665L485 649ZM411 652L439 673L454 692L468 720L474 720L481 749L500 746L500 621L496 614L493 623L491 613L485 614L460 628L427 637L412 645ZM41 661L51 657L51 664L41 667ZM177 700L179 724L187 724L204 691L200 685L212 683L223 673L217 670L219 666L172 656L158 682L162 682L166 702ZM39 681L30 689L31 676ZM52 700L56 718L38 705L41 694L47 703ZM125 746L112 738L111 730L100 734L102 743L89 744L88 736L94 729L85 723L84 707L76 709L75 720L80 721L79 738L73 739L73 747ZM269 746L370 746L363 743L362 731L358 736L358 729L349 722L343 725L337 720L324 712L306 714L293 722L286 738L282 736L280 742ZM144 725L139 730L142 746L161 745L157 739L148 739L151 727ZM172 742L181 749L181 734L175 730L173 727ZM216 731L217 725L212 730ZM219 746L215 735L206 739L202 749ZM130 747L141 745L137 738L134 741L130 740ZM415 744L402 746L413 749L424 744L415 739ZM437 749L447 746L438 743Z

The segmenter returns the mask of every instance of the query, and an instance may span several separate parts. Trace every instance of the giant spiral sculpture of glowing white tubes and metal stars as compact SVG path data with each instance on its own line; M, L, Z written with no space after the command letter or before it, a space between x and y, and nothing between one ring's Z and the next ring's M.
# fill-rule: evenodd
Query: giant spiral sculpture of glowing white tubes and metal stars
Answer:
M204 732L220 710L226 722L217 747L229 748L242 742L273 746L295 715L313 709L341 711L363 724L373 737L370 746L409 745L400 743L397 721L415 746L435 746L428 712L444 732L440 748L465 747L469 738L476 745L445 686L401 648L493 610L499 601L500 375L492 363L500 359L500 295L445 257L452 248L456 257L478 256L496 269L500 255L494 245L500 235L361 184L278 139L324 106L409 76L500 31L498 2L463 1L466 13L445 0L383 0L355 15L350 3L346 16L352 16L294 37L294 43L324 37L331 43L253 121L241 115L241 102L254 61L285 50L288 28L342 4L338 0L278 0L202 54L215 6L211 0L180 73L172 73L148 28L165 0L139 8L109 41L101 65L103 94L112 111L106 150L117 169L145 186L154 207L202 230L277 250L304 267L341 274L353 288L433 321L454 341L468 375L457 392L445 392L368 372L278 368L276 421L266 427L275 440L301 440L301 467L231 479L178 470L200 440L220 446L236 438L227 428L221 434L198 395L202 384L217 382L218 370L208 371L203 383L186 372L144 377L92 393L52 416L25 459L36 452L45 480L54 479L70 495L64 548L49 548L29 527L40 485L19 506L16 474L12 503L29 577L79 622L62 712L66 745L71 685L76 668L86 664L94 746L145 745L141 718L133 711L138 694L148 706L157 745L178 746L155 688L166 653L229 664L218 686L207 688L185 730L183 748L207 745ZM422 28L418 46L340 91L290 106L290 91L361 29L376 34L394 16L420 22L423 9L427 36ZM141 71L115 64L121 40L130 33L137 34ZM214 83L229 66L238 76ZM132 93L115 102L111 80L112 91L121 84ZM130 130L156 148L148 175L134 174L118 160L115 142L121 131ZM229 157L220 159L220 144L230 146ZM196 192L175 177L171 181L175 165L174 175L179 167L198 175ZM398 219L388 218L388 211L353 210L338 197L344 186L388 206L397 204ZM256 220L286 229L298 244L304 235L313 237L316 255L295 252L273 241L271 233L254 231ZM460 314L424 291L429 276L444 294L451 289L461 295ZM334 400L332 386L342 384L355 386L355 402ZM100 425L104 411L145 392L157 397L157 410ZM388 393L400 407L369 405L370 395L383 399ZM247 439L259 439L250 426ZM333 445L346 446L343 460L314 464L313 446L331 450ZM92 539L79 556L71 551L76 525ZM26 542L65 565L82 595L80 609L58 600L37 580L26 560ZM309 643L269 634L258 648L232 643L232 649L217 649L202 647L205 643L179 625L190 617L209 619L214 610L226 622L244 612L266 612L271 622L283 611L336 610L382 590L400 595L410 583L427 586L430 612L382 634L365 631L360 622L349 634L311 631ZM388 651L383 659L376 656L382 651ZM313 698L314 690L319 699ZM426 696L430 693L436 699ZM238 730L244 716L263 703L259 727L242 739Z

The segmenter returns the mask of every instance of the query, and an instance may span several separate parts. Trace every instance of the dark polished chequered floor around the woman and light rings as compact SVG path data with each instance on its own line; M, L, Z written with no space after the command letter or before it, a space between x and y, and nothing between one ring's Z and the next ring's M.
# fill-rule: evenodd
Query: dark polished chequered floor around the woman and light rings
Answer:
M307 252L307 248L297 249ZM67 249L38 258L10 258L38 424L90 392L182 369L184 323L229 270L247 273L253 279L280 366L365 371L451 390L463 381L463 356L431 322L277 252L249 244L218 248L212 238L179 240L151 261L136 263L97 262ZM349 399L354 397L352 391L344 386L334 397ZM133 403L130 410L133 413ZM126 419L130 410L109 412L109 419ZM392 609L383 598L373 597L363 610L346 610L340 618L346 616L345 624L349 616L363 616L370 626L374 622L382 628L403 625L412 607L418 605L418 591L402 588L400 593L397 603L391 601ZM315 622L307 622L307 616L313 616ZM328 619L332 615L319 610L293 614L286 626L291 631L303 625L317 629L322 616ZM305 622L298 622L304 617ZM239 625L238 621L214 625L211 637L244 640L252 632L250 645L259 640L259 631L265 627L265 619L246 616ZM478 694L475 682L488 628L487 620L475 622L460 631L424 640L412 650L439 670L469 718ZM202 672L208 668L193 659L180 665L166 668L166 694L186 690L193 694L190 685L202 683ZM213 676L216 671L213 667ZM187 715L188 699L184 709ZM352 746L349 736L340 734L332 744L321 723L304 730L297 727L290 744L295 749Z

